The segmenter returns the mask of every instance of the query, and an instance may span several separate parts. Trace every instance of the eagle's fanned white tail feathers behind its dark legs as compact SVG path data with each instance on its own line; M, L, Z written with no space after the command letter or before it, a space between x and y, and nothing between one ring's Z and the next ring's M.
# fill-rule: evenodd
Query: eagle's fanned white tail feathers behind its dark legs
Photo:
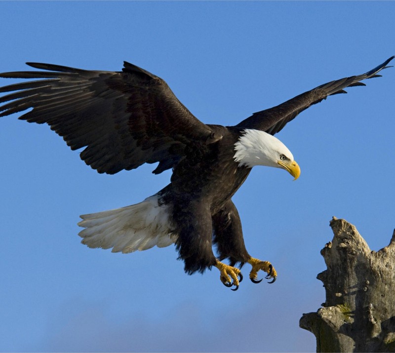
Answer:
M158 204L158 195L135 205L80 216L82 244L90 248L113 248L129 253L157 245L165 247L177 240L169 221L169 207Z

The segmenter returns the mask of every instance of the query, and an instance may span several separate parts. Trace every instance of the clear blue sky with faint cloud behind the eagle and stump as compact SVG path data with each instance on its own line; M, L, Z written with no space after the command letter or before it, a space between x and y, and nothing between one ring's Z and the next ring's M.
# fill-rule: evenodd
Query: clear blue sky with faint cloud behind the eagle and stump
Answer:
M0 71L26 61L164 78L200 120L236 124L395 54L395 2L0 2ZM79 215L153 195L152 165L99 175L47 126L0 119L0 351L314 352L303 313L333 215L372 250L395 227L395 70L329 97L276 136L302 169L256 167L234 196L275 284L237 292L188 276L173 246L123 255L79 243ZM11 83L0 79L0 85ZM247 277L248 268L244 269Z

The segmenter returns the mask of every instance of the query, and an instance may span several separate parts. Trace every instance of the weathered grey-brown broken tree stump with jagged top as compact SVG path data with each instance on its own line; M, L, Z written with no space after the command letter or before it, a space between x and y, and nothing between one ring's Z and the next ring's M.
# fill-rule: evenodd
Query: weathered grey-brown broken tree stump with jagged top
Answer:
M327 270L317 275L326 300L299 326L316 336L317 352L395 352L395 230L375 252L344 219L330 226L333 240L321 250Z

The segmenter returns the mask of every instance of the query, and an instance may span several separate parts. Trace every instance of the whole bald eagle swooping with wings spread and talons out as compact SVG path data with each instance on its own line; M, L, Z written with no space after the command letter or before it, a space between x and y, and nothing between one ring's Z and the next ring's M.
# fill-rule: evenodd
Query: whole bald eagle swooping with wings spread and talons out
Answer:
M123 253L174 243L187 274L214 266L221 282L237 290L245 263L252 266L254 283L262 280L257 279L260 270L272 279L269 283L277 274L269 261L247 252L232 196L255 165L282 168L297 179L298 164L273 135L327 96L379 77L392 59L254 113L235 126L202 123L163 79L128 62L121 72L27 63L45 71L0 74L38 78L0 87L0 92L11 92L0 97L0 117L31 109L19 119L47 123L72 150L84 148L81 159L99 173L156 162L155 174L172 169L170 184L142 202L80 216L81 242Z

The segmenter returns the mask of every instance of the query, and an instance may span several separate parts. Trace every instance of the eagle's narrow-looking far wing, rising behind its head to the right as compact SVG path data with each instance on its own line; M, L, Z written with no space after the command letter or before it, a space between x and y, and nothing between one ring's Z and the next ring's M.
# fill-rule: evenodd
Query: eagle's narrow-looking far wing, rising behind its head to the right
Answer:
M244 119L236 126L239 128L262 130L274 135L299 113L303 112L313 104L326 99L327 96L338 93L347 93L344 90L346 87L365 86L364 83L360 82L363 79L381 77L381 75L377 75L377 73L388 68L389 66L387 66L387 64L394 59L394 57L395 56L392 56L383 64L365 74L341 78L336 81L321 84L320 86L302 93L276 107L254 113L251 117Z

